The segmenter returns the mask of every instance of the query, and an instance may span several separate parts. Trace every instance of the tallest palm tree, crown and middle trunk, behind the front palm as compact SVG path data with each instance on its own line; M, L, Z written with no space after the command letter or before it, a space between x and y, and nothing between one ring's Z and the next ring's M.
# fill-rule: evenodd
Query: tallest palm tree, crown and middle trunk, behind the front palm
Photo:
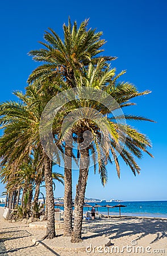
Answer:
M103 51L101 47L105 44L105 40L101 39L102 32L88 30L87 24L88 20L85 20L80 27L77 27L77 22L72 26L69 19L68 26L65 24L63 26L64 42L51 28L45 32L45 42L40 42L45 48L29 53L35 61L43 63L32 72L28 78L29 84L37 80L38 88L43 90L46 85L45 83L43 85L43 82L49 81L48 93L57 94L62 90L75 87L74 72L78 70L84 73L90 61L95 65L98 59L108 61L115 59L115 57L97 56ZM72 148L67 144L65 144L65 155L72 157ZM64 236L70 236L72 233L72 162L68 157L65 157L64 183Z

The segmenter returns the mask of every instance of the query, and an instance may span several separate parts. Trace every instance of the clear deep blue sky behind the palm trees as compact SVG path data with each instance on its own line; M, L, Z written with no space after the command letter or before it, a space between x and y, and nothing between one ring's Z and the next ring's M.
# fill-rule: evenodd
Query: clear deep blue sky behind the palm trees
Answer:
M102 187L99 176L90 170L86 196L99 199L166 200L166 46L167 2L155 1L1 1L1 95L0 101L13 100L13 90L24 90L28 75L36 63L27 52L40 47L44 31L53 28L60 36L62 24L80 23L90 18L89 26L103 31L106 55L118 56L112 65L117 71L127 69L125 81L152 94L138 98L131 113L144 115L157 123L133 126L147 134L153 143L155 159L144 155L138 163L141 175L133 176L121 163L120 180L113 166L108 166L108 184ZM128 109L126 110L128 113ZM57 169L58 170L58 169ZM62 171L63 170L59 170ZM77 171L73 172L74 188ZM0 184L0 195L3 186ZM57 184L55 196L63 196Z

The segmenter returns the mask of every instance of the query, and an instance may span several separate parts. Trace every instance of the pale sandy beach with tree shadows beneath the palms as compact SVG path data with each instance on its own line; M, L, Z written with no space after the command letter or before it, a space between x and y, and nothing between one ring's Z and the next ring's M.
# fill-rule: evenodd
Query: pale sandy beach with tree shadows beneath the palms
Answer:
M0 255L167 255L166 219L145 217L122 217L83 222L82 245L70 243L70 238L62 236L53 240L41 240L45 228L35 229L22 222L8 222L0 207ZM109 238L110 246L91 247L95 243L103 245ZM62 250L62 247L87 247L81 250Z

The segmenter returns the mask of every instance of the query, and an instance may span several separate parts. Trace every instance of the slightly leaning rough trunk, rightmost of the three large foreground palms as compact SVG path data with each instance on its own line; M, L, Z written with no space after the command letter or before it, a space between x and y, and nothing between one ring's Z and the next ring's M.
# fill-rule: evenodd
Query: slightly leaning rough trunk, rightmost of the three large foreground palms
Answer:
M83 204L85 199L85 190L87 184L87 175L89 167L89 150L80 150L80 175L78 178L78 184L76 185L76 198L74 205L74 227L72 232L73 243L82 242L81 231L82 231L82 218L83 218ZM86 160L87 159L87 160Z

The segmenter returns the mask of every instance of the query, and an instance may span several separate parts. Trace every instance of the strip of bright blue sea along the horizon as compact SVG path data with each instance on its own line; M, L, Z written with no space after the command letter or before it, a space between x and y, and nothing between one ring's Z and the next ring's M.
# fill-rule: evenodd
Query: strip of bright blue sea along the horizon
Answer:
M123 201L123 202L100 202L100 203L87 203L90 205L90 208L84 207L83 212L86 213L87 210L91 210L91 207L94 206L98 213L108 214L109 215L119 215L118 208L107 208L105 205L114 205L122 204L126 207L120 208L122 216L144 216L144 217L162 217L167 218L167 201ZM95 204L101 205L101 207L96 208ZM0 204L1 207L4 207L5 204ZM63 210L63 207L60 207Z

